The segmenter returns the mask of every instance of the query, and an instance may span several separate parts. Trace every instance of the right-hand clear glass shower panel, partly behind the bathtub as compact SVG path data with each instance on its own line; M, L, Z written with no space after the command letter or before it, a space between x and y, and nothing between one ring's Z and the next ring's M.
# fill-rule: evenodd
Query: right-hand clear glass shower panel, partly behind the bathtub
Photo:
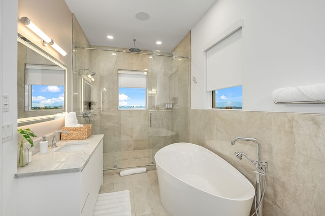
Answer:
M149 163L155 163L159 149L188 141L188 58L156 56L149 64Z

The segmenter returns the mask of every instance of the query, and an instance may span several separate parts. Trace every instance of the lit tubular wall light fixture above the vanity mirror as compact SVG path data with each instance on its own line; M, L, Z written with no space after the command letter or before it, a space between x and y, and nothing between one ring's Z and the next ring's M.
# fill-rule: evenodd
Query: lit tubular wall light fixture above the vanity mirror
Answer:
M20 22L22 22L24 25L26 25L31 31L33 31L35 34L37 34L42 39L42 44L44 46L51 45L52 48L54 48L58 53L60 53L62 56L66 56L67 53L62 48L60 48L55 42L47 36L39 27L37 27L34 23L30 21L27 17L20 18Z

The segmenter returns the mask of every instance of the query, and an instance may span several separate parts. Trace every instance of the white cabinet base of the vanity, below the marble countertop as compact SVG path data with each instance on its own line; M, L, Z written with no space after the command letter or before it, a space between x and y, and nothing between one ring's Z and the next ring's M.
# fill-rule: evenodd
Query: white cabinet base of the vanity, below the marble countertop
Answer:
M68 155L68 154L67 154ZM18 215L89 216L103 185L103 139L78 171L65 167L74 157L64 157L53 174L18 177ZM47 155L50 156L50 155ZM83 154L80 154L82 157ZM87 157L85 156L85 157ZM60 158L61 159L61 158ZM71 162L71 161L70 161ZM29 165L29 164L28 164ZM55 173L57 172L57 173Z

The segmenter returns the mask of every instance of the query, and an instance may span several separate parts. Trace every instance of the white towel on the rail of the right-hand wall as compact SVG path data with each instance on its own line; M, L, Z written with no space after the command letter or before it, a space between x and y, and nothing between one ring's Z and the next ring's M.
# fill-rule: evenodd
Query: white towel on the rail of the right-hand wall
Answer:
M325 83L276 89L271 97L274 103L325 101Z

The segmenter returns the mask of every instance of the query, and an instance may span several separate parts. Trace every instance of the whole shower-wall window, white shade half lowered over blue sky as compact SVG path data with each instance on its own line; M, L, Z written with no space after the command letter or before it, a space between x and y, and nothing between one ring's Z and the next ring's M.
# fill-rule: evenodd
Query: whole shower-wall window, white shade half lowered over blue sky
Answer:
M147 72L118 70L118 109L147 108Z

